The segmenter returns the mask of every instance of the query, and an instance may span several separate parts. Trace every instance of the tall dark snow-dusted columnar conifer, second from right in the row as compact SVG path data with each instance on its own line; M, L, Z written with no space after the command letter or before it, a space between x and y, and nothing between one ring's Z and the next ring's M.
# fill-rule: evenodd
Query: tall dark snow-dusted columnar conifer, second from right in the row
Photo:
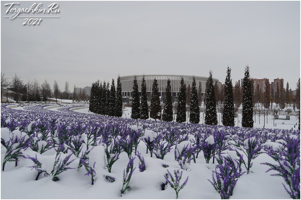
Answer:
M234 126L233 86L231 79L231 68L229 66L227 68L227 76L225 79L225 101L222 121L225 126Z

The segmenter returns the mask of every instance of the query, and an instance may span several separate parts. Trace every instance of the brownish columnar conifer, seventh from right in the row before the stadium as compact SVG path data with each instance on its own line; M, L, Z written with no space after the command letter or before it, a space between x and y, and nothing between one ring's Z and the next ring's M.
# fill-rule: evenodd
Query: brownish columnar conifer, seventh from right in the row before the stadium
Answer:
M156 79L154 79L152 87L150 117L156 121L157 119L161 119L161 105L158 92L158 82Z

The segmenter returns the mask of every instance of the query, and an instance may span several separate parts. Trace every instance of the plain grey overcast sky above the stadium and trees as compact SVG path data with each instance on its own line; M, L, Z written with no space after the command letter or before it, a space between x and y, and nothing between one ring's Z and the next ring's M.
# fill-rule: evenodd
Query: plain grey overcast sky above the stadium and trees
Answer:
M23 25L12 8L59 13ZM27 82L57 80L63 89L133 74L209 76L233 85L249 64L253 78L300 78L300 1L1 1L1 72ZM30 17L29 17L30 18Z

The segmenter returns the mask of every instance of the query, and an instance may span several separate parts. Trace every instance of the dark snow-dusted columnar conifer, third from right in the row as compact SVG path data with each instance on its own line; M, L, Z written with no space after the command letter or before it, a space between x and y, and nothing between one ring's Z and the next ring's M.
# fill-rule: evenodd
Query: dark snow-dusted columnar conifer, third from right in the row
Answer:
M207 97L206 97L206 110L205 110L205 124L217 125L217 113L216 113L216 99L215 91L212 80L212 71L209 71L209 78L207 84Z

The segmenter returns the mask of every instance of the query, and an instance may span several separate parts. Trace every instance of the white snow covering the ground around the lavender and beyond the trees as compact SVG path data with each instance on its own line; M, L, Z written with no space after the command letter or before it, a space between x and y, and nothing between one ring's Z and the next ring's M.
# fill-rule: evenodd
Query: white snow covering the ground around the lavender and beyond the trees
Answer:
M73 105L71 105L73 106ZM70 108L71 108L70 106ZM67 107L68 108L68 107ZM22 109L23 108L16 108ZM49 112L59 111L58 108L49 109ZM62 112L62 111L60 111ZM95 115L88 111L88 108L79 109L72 112L85 113L89 115ZM130 118L131 108L126 108L122 118ZM219 116L219 114L218 114ZM219 119L219 118L218 118ZM153 119L150 119L153 120ZM236 119L237 120L237 119ZM238 115L238 126L241 127L241 114ZM282 124L284 122L284 124ZM273 117L268 116L268 123L265 124L265 128L277 128L297 130L297 119L295 116L290 116L290 120L275 120L277 127L273 125ZM203 123L203 113L201 113L200 124ZM131 124L134 125L134 124ZM222 125L222 123L221 123ZM235 122L237 126L237 121ZM260 124L258 118L254 127L263 127L263 117L260 118ZM2 131L2 130L1 130ZM1 133L2 134L2 133ZM174 146L173 146L174 148ZM104 147L97 146L89 154L89 159L94 163L96 162L95 171L96 177L94 185L91 185L90 176L85 176L85 169L82 167L77 171L79 159L74 156L71 159L76 159L71 163L71 167L76 168L67 170L60 174L60 181L54 182L51 177L42 177L40 175L38 181L35 181L37 171L31 170L26 166L32 166L33 162L23 157L19 158L18 166L15 167L15 162L8 162L5 165L5 171L1 172L1 198L2 199L175 199L175 190L169 185L165 190L161 190L161 184L166 180L164 175L169 172L173 172L175 169L183 171L182 184L187 177L187 185L180 190L178 199L220 199L219 194L214 190L213 186L209 183L212 180L212 170L215 169L216 162L213 164L211 158L209 164L205 162L203 152L200 152L196 163L191 163L188 170L182 170L174 157L174 149L166 154L164 160L157 159L153 155L150 157L150 153L146 154L146 145L140 141L137 150L144 157L146 170L139 172L138 170L138 157L134 160L134 168L132 178L130 180L130 190L127 190L125 194L120 195L120 190L123 185L123 170L126 168L129 158L125 152L120 154L119 160L113 164L111 173L105 169L105 154ZM1 162L6 149L1 145ZM23 152L24 155L31 157L37 157L42 162L47 171L50 172L55 160L55 150L51 149L43 154L36 153L30 148ZM70 153L70 152L69 152ZM135 154L132 153L135 157ZM275 171L265 173L268 166L260 163L269 162L275 163L275 161L267 154L260 154L255 160L253 160L253 166L249 174L242 175L236 184L231 199L290 199L290 196L286 193L282 183L284 180L282 177L270 176L275 174ZM162 165L168 165L164 168ZM245 170L244 166L243 170ZM173 173L172 173L173 174ZM115 182L108 182L104 176L109 175L115 178Z

